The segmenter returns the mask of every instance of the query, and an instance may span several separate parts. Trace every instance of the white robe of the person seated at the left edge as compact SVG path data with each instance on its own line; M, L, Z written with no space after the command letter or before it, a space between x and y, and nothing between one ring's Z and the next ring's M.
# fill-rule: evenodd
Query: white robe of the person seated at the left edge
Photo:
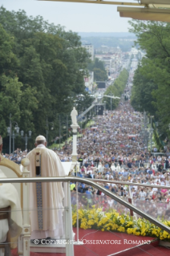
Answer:
M0 178L6 178L1 169ZM10 230L10 246L14 248L14 242L17 242L17 238L22 232L22 209L14 185L0 182L0 208L6 208L7 206L10 206L11 209L10 226L8 226L8 220L0 220L0 242L6 241L6 234ZM1 249L0 255L2 255Z

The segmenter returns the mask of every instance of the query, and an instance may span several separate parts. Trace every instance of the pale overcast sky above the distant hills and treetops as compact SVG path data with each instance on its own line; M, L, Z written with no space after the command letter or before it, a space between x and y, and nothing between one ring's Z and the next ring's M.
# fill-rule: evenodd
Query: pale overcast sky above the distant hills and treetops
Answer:
M117 6L112 5L0 0L0 6L7 10L25 10L29 16L41 15L45 20L75 32L127 32L129 27L129 19L120 18Z

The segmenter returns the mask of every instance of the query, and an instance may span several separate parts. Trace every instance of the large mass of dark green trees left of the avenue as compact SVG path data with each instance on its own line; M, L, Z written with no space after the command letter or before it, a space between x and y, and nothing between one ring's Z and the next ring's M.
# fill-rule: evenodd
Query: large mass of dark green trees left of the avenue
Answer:
M9 116L21 130L46 134L48 121L55 124L49 140L59 134L59 114L70 115L76 95L91 104L84 86L89 55L80 37L42 17L28 17L24 10L0 7L0 128L6 136ZM18 144L22 146L18 138Z

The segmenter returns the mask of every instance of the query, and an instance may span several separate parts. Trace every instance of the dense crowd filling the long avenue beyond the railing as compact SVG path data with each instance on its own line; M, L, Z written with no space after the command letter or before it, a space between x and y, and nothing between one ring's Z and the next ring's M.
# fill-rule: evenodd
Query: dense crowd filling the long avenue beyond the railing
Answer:
M144 147L144 137L140 136L142 114L135 112L129 101L120 100L114 111L105 111L97 116L89 128L83 129L77 143L79 171L75 175L99 179L99 185L111 190L133 204L152 213L154 217L166 216L169 208L170 189L160 189L154 185L170 185L170 156L148 152ZM61 150L54 149L61 161L71 161L72 142ZM154 150L156 151L156 150ZM5 155L17 164L27 152L18 148L13 154ZM152 185L152 187L115 184L126 181ZM106 197L99 190L79 183L79 207L99 204L103 209L114 205L118 211L126 211L122 205ZM75 184L71 184L71 201L75 201Z

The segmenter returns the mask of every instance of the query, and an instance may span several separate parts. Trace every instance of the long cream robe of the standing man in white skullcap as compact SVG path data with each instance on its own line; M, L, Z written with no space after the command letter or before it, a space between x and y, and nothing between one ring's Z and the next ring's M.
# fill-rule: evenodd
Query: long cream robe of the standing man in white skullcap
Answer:
M59 156L43 144L38 145L26 156L30 160L30 177L64 177ZM39 158L38 158L39 157ZM36 161L40 173L36 173ZM63 186L62 182L30 183L30 226L31 239L61 238L63 236Z

